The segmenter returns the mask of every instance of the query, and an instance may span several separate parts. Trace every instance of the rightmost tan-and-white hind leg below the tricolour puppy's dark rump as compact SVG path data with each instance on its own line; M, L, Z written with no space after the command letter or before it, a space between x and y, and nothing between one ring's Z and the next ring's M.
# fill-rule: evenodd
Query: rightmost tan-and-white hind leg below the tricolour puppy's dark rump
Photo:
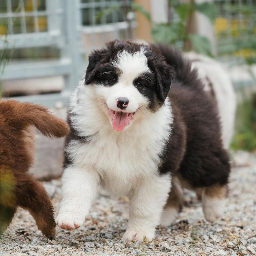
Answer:
M206 220L213 222L224 213L227 185L213 185L204 188L202 195L203 212Z

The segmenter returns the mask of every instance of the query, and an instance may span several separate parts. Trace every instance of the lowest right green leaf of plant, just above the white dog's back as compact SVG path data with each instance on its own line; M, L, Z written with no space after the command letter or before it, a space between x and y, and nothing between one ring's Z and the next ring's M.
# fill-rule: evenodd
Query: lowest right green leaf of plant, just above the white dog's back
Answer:
M199 36L197 34L189 34L188 38L191 41L192 50L198 53L212 56L211 43L208 38Z

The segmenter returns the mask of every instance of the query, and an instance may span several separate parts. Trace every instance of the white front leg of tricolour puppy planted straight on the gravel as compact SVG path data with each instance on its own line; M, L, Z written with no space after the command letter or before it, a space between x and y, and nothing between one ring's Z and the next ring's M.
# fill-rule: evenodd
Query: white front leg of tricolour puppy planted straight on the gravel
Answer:
M128 227L123 236L125 240L142 242L144 237L149 241L155 238L155 229L170 188L170 175L157 175L138 182L132 192Z

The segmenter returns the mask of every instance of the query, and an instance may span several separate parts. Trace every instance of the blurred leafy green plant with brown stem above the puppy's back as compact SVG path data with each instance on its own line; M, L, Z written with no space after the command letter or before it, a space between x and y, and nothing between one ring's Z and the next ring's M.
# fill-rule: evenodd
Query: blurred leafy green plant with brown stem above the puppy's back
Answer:
M180 4L179 0L169 0L168 12L175 16L173 22L169 15L167 23L153 24L152 36L156 42L180 46L182 50L212 55L211 43L204 37L191 33L194 12L200 12L212 22L216 17L216 6L213 3L203 2L196 4L194 0Z

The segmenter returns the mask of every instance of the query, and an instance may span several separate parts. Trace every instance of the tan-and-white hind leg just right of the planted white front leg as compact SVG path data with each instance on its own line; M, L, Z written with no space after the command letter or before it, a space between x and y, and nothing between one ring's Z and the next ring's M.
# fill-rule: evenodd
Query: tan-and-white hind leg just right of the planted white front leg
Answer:
M168 200L162 212L160 225L162 227L170 226L178 217L183 204L183 190L177 179L172 180L172 188Z

